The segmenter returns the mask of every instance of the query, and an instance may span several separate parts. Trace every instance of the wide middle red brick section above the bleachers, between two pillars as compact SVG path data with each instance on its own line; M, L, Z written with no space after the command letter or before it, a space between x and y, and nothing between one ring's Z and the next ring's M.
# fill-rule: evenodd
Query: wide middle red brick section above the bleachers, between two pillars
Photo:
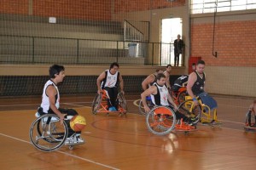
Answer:
M110 20L111 0L33 1L33 14L83 20Z

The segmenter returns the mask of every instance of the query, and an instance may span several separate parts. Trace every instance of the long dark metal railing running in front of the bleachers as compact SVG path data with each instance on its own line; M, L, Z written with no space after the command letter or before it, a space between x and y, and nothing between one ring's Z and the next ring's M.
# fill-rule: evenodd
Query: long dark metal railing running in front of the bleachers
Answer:
M135 45L129 46L131 43ZM0 63L167 65L174 60L172 48L172 43L161 42L5 35L0 36Z

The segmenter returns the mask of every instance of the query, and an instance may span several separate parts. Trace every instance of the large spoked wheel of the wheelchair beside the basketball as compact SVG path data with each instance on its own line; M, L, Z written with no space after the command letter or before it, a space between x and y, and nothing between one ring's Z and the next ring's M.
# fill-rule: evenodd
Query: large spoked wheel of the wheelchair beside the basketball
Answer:
M61 148L67 139L67 123L61 125L60 118L53 114L38 117L30 127L29 137L32 144L42 151Z

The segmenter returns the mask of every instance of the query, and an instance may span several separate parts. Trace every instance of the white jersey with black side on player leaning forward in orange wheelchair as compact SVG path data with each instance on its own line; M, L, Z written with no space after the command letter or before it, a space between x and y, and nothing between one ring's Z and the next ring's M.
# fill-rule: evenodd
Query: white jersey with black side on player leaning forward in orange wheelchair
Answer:
M168 88L166 84L160 86L157 82L153 84L157 88L157 94L151 94L151 99L154 105L170 105L168 102Z

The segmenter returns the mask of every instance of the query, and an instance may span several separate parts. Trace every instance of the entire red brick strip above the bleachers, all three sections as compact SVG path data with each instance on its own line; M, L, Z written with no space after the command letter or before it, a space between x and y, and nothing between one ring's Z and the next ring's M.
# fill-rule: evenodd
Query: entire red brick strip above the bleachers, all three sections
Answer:
M112 0L34 0L32 14L82 20L111 20ZM183 6L185 0L119 0L114 1L114 12L142 11L154 8ZM0 13L28 14L29 0L1 0Z

